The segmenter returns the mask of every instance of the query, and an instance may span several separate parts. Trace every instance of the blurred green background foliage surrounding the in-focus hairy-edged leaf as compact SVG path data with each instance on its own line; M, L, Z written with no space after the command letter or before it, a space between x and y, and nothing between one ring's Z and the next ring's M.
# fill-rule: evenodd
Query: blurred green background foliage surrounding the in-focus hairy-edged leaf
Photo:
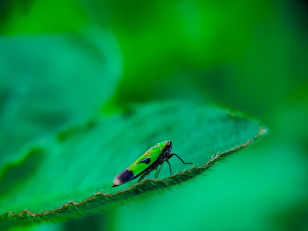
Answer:
M0 164L28 142L132 102L219 104L270 128L187 187L29 230L308 230L307 9L1 0Z

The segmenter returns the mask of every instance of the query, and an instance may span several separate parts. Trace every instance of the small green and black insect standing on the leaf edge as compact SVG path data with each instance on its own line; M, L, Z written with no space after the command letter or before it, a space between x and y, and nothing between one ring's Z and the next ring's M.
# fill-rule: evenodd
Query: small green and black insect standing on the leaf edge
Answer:
M161 170L162 164L166 161L169 164L170 174L171 172L171 165L169 159L172 156L177 156L183 164L192 164L192 163L185 163L180 156L175 153L171 153L172 143L171 141L163 141L158 144L155 144L149 150L147 150L142 156L140 156L134 163L124 169L121 173L116 175L113 180L112 187L124 184L130 180L133 180L141 175L138 182L144 179L149 173L153 170L155 172L155 178L157 177L158 173ZM158 172L158 166L160 166Z

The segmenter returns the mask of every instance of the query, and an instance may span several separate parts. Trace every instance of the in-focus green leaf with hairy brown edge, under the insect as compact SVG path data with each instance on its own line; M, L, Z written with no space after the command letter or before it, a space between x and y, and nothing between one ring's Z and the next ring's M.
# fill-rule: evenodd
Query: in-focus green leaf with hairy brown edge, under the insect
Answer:
M0 228L57 222L97 213L138 195L163 192L206 172L266 130L258 121L215 106L187 102L135 105L101 115L28 147L27 158L4 166ZM113 178L155 143L171 140L173 152L158 178L151 173L111 188ZM19 177L23 176L22 182Z

